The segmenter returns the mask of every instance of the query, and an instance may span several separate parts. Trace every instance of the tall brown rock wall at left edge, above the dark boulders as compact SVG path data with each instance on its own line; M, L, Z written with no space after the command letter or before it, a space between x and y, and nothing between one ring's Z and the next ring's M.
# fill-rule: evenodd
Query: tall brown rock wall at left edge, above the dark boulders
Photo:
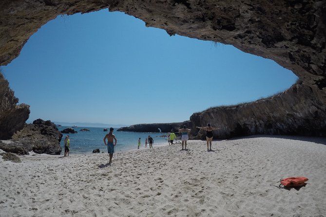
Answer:
M24 127L29 117L29 106L17 105L19 99L9 88L8 81L0 73L0 140L10 139L19 129Z

